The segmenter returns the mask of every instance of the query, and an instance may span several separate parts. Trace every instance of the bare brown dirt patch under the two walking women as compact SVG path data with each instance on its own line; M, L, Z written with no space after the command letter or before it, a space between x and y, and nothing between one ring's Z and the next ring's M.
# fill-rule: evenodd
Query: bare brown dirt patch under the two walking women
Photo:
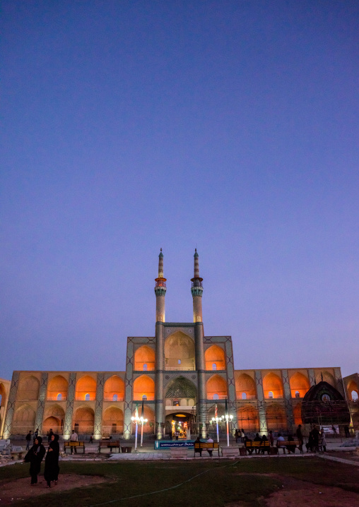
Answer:
M108 478L106 479L105 477L96 475L61 474L56 486L54 482L52 482L51 489L47 488L46 481L42 475L39 475L38 482L35 486L30 485L30 477L16 479L12 482L1 481L0 506L8 506L14 501L26 500L35 496L47 494L50 491L52 493L55 491L66 491L66 489L90 486L106 481L108 481Z

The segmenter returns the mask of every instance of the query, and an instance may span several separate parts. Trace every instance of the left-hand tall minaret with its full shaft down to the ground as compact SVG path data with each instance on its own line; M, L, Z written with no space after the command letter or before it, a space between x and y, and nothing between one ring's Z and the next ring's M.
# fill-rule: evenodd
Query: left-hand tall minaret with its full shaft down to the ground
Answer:
M163 373L165 370L165 340L163 323L165 322L166 279L163 278L163 253L158 256L158 278L155 279L155 425L156 436L163 438L164 405Z

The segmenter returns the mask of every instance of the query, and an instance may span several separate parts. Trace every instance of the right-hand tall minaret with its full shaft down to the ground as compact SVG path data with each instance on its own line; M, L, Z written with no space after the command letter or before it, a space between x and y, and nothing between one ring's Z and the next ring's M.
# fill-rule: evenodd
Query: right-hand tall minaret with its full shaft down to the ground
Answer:
M194 347L196 351L196 369L198 374L197 417L201 424L201 436L206 437L206 374L204 367L204 325L202 322L202 280L199 276L199 255L194 250L194 278L191 278L194 321Z

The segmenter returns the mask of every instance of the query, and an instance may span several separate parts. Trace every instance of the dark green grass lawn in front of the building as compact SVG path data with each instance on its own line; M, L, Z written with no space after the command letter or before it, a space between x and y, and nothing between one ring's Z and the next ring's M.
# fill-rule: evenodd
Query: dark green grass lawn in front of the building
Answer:
M42 465L43 466L43 465ZM282 489L285 477L307 484L333 486L358 494L359 467L319 458L252 459L143 462L60 462L62 474L102 476L107 482L56 492L23 501L16 506L81 507L108 503L109 506L262 506L269 494ZM29 465L0 468L1 483L28 476ZM205 473L202 473L205 472ZM201 475L199 475L201 474ZM199 475L199 477L194 477ZM194 479L192 479L194 477ZM189 480L192 479L192 480ZM189 482L186 482L189 481ZM175 489L169 489L184 483ZM44 483L42 483L42 488ZM40 484L37 486L40 487ZM148 495L151 491L165 490ZM126 499L129 496L139 496ZM1 498L1 493L0 493ZM117 500L119 501L113 501ZM355 501L355 500L354 500ZM314 504L313 504L314 505ZM353 503L355 505L355 503ZM1 506L1 501L0 501Z

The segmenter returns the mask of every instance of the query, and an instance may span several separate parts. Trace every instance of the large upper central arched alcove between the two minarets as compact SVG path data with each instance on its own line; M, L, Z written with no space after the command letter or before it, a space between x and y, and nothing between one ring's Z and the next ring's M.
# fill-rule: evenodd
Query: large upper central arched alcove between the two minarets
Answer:
M182 331L173 333L165 341L165 368L177 370L195 368L194 341Z

